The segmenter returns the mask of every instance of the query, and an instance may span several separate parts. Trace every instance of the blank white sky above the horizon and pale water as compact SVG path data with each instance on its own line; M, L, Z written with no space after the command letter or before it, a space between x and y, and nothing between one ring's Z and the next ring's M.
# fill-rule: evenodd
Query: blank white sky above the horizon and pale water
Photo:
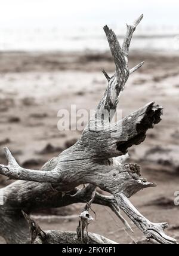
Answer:
M0 0L0 26L124 24L179 26L178 0Z

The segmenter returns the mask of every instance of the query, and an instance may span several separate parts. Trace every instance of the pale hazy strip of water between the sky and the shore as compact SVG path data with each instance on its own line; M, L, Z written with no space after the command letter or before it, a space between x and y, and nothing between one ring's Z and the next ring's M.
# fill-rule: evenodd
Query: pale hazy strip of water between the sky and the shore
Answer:
M125 27L110 26L122 43ZM0 51L106 51L101 26L0 26ZM137 28L131 50L178 51L178 28Z

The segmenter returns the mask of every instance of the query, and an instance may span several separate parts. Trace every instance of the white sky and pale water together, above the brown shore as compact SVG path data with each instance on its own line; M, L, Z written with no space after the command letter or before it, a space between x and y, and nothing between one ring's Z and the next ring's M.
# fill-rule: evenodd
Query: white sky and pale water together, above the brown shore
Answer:
M108 50L101 28L107 24L122 38L125 23L144 13L131 49L172 51L178 7L177 0L1 1L0 50Z

